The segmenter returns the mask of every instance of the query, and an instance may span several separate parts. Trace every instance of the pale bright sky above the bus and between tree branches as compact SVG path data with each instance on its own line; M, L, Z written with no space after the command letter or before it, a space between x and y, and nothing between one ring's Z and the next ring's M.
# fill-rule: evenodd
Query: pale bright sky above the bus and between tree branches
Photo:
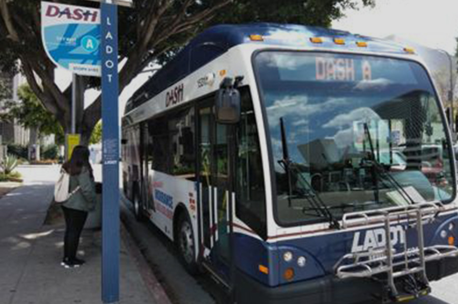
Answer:
M421 45L455 53L458 37L458 0L376 0L375 8L348 10L332 23L336 29L385 38L390 35ZM142 73L127 86L119 99L120 117L127 99L146 81L151 73ZM69 72L58 69L56 83L62 89L71 82ZM88 90L84 104L89 106L99 92Z

